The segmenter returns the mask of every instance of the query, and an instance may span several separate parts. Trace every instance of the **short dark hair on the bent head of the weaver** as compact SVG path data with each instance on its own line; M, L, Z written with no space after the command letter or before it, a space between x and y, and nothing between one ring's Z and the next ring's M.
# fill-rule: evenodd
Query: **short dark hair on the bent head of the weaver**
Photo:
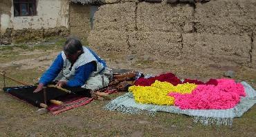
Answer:
M82 50L82 43L80 40L70 37L66 40L63 50L66 54L75 54L77 51Z

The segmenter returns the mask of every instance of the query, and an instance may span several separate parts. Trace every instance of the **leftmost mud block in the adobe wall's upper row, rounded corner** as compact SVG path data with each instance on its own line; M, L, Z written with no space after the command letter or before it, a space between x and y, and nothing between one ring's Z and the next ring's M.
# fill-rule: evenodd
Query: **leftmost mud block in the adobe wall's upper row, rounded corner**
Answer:
M100 6L95 12L93 30L135 30L136 3L115 3Z

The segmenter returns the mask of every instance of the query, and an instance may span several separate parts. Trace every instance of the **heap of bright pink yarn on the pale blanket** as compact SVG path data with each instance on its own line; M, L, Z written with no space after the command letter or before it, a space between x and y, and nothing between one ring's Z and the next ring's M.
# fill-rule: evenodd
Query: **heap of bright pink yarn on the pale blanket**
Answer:
M170 92L181 109L230 109L246 96L244 86L228 78L217 79L217 85L197 85L191 94Z

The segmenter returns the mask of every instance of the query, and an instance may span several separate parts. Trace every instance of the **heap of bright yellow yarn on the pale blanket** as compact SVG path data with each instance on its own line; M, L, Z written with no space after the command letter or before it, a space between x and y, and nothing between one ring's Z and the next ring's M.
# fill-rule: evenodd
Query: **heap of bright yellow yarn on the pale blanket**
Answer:
M167 96L170 92L179 92L181 94L190 94L196 88L195 84L185 83L176 86L171 83L155 81L151 86L129 87L129 92L134 94L136 103L156 104L156 105L174 105L174 98Z

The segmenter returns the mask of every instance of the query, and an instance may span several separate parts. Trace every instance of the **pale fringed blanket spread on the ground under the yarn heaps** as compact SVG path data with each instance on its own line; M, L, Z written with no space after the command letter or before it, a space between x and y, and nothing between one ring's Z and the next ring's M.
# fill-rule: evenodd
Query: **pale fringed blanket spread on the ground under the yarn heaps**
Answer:
M136 103L131 93L119 96L105 106L108 110L117 110L129 114L155 114L158 111L194 116L194 122L203 125L232 125L232 118L241 117L256 103L256 91L246 82L241 82L246 92L245 97L231 109L179 109L174 105L149 105Z

